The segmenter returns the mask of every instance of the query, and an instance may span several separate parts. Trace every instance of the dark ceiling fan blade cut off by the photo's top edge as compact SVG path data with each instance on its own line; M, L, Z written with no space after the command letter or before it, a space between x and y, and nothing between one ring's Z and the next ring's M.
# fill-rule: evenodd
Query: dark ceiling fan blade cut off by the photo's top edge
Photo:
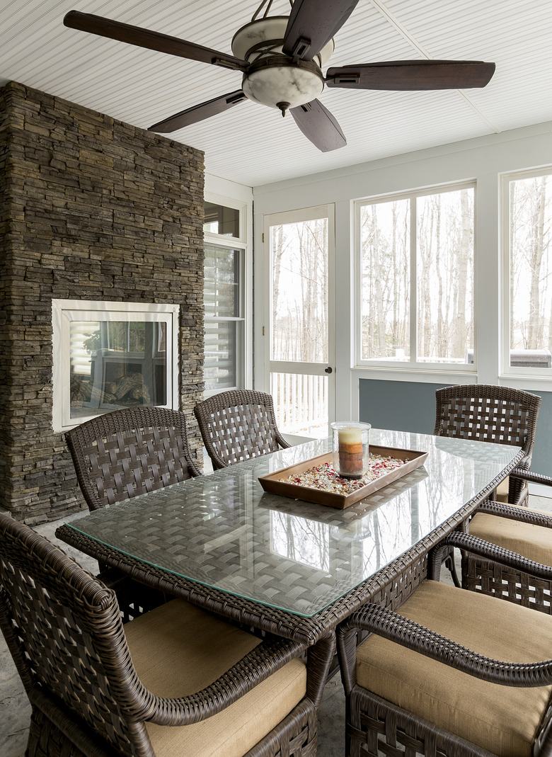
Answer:
M284 34L286 55L312 61L336 34L358 0L295 0Z

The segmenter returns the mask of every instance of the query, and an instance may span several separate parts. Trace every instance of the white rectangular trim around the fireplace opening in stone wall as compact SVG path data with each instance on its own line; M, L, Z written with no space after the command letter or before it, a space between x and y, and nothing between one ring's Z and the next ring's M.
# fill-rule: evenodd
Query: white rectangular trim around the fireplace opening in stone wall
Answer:
M71 418L70 415L70 322L141 321L166 325L166 404L178 409L178 316L179 305L163 303L97 302L52 300L53 416L54 431L69 431L98 413ZM170 347L170 348L169 348ZM113 410L116 408L113 407ZM108 413L109 408L104 412Z

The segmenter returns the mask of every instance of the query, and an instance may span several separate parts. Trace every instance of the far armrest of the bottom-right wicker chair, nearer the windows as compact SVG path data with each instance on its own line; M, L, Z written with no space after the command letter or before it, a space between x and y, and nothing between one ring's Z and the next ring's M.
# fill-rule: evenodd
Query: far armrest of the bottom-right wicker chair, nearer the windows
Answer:
M533 575L535 578L544 578L545 581L552 580L552 568L550 565L533 562L533 560L522 557L516 552L504 550L502 547L490 544L488 541L479 539L476 536L464 534L461 531L451 531L450 534L443 537L438 546L434 547L430 553L428 575L434 581L439 581L442 560L448 554L448 547L458 547L466 552L492 560L492 562L500 562L501 565L507 565L508 568L529 573L529 575Z

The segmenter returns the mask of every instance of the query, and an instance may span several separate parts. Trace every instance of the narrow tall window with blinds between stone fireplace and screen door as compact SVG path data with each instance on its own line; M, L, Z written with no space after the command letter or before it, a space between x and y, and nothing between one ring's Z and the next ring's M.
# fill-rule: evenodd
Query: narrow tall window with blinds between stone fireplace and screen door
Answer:
M240 388L245 374L243 209L205 202L205 393Z

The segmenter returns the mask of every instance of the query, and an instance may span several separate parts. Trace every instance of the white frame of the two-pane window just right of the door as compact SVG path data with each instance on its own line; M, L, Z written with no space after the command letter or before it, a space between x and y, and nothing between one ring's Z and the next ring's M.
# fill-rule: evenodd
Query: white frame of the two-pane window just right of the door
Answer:
M417 207L419 197L439 195L445 192L458 192L461 189L473 189L473 363L431 363L429 361L412 360L417 358ZM361 250L361 210L362 207L372 204L383 204L396 200L410 200L410 360L389 360L385 358L362 357L362 250ZM354 367L370 372L417 372L429 374L465 374L467 380L477 373L477 298L476 298L476 271L477 271L477 239L476 239L476 213L477 213L477 186L474 179L461 182L450 182L441 185L410 189L402 192L391 192L385 195L373 195L353 201L353 243L354 243L354 287L353 302L355 318L352 324L354 339Z

